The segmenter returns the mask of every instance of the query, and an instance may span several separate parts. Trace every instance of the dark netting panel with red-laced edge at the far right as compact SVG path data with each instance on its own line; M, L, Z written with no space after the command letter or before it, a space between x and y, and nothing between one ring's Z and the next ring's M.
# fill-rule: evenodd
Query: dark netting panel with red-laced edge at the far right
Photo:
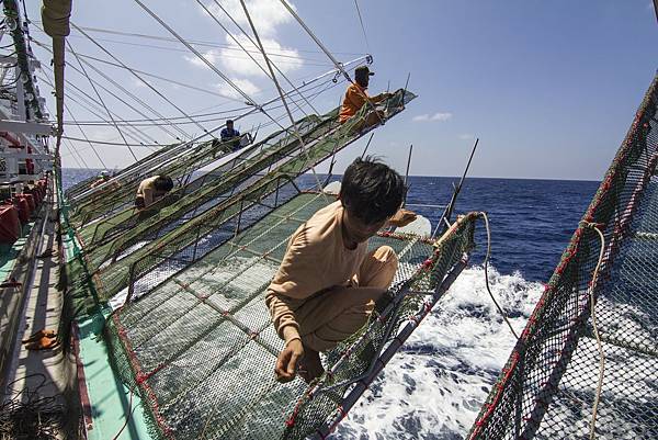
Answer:
M658 77L531 316L470 439L589 438L600 357L605 354L595 433L658 438Z

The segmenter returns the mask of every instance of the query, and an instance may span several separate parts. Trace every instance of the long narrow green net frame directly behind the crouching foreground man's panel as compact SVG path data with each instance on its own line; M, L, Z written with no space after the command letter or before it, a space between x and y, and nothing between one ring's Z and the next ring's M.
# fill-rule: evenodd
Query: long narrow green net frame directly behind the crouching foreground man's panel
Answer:
M402 111L404 104L413 98L416 95L409 91L396 91L384 103L388 109L387 117ZM275 167L268 166L264 176L239 179L238 185L229 185L226 192L213 191L207 195L202 189L189 194L189 200L178 202L194 206L189 217L183 217L181 211L184 210L175 205L163 210L152 222L146 221L134 232L122 234L120 239L86 250L87 269L93 273L99 298L107 301L128 286L131 292L144 285L150 289L147 274L155 277L154 273L159 271L175 271L196 261L236 229L264 215L264 206L285 202L295 193L296 177L373 128L360 129L366 111L364 108L342 125L332 114L317 128L317 136L313 136L316 129L310 132L305 147L294 143L292 150L280 155L281 160L274 163Z

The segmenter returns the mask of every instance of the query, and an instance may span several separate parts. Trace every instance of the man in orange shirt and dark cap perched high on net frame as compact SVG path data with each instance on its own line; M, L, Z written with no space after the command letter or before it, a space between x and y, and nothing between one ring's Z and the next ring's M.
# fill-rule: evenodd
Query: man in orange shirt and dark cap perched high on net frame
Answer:
M363 105L370 105L372 111L367 113L363 123L355 126L355 131L379 124L384 120L384 112L375 110L375 104L390 98L392 93L379 93L375 97L370 97L366 90L370 77L373 75L375 74L370 71L367 66L359 66L354 69L354 82L348 87L338 116L341 124L344 124L350 117L354 116Z

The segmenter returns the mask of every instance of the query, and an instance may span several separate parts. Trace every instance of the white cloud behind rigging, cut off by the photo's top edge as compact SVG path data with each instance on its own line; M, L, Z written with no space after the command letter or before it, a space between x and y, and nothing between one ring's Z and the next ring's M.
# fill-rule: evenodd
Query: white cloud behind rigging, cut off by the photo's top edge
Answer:
M285 9L285 7L281 4L280 0L247 0L246 4L249 15L251 15L251 20L253 21L253 25L261 37L276 34L276 26L293 20L293 16ZM294 4L292 4L290 1L288 4L291 4L293 10L295 10ZM228 12L230 16L232 16L232 19L240 24L240 26L242 26L246 31L251 30L249 22L247 21L247 15L245 15L245 10L240 4L240 0L223 0L222 5L226 12ZM219 20L222 20L222 18L226 18L222 9L219 9L214 1L211 1L208 4L206 4L206 7ZM206 12L203 11L203 13L205 14Z

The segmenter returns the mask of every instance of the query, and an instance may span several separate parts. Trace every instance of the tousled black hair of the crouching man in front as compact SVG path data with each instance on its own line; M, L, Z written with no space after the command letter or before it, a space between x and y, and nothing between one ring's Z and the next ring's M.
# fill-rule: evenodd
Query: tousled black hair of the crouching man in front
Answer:
M343 174L340 200L351 215L366 224L390 217L402 204L405 181L378 159L356 158Z

